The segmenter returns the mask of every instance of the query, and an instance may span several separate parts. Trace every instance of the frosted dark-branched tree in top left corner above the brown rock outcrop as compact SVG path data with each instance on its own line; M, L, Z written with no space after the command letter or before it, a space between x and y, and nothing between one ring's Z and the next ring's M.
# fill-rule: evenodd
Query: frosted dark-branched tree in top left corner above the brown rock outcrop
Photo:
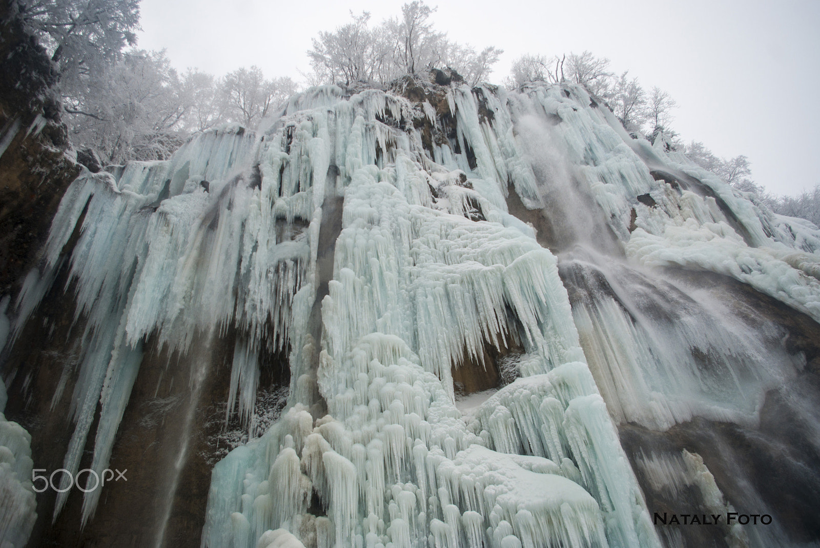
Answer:
M11 7L51 53L69 94L137 42L139 0L11 0Z

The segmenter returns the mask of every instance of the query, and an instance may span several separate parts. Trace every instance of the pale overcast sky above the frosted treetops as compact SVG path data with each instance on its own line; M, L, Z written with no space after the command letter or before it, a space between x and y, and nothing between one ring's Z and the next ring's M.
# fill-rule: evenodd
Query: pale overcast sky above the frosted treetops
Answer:
M257 65L266 76L310 68L320 30L399 15L406 0L142 0L139 47L166 48L179 69L222 75ZM435 26L476 48L503 48L500 83L523 53L588 49L657 85L679 104L673 129L718 156L745 154L754 179L776 194L820 182L820 0L428 0Z

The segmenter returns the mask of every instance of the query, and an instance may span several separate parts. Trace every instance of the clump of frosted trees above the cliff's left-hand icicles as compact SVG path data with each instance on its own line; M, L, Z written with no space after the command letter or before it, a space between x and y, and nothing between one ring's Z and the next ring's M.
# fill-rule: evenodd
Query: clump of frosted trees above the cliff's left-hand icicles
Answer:
M296 90L293 80L266 80L256 66L220 79L192 69L180 77L164 51L130 51L89 75L64 108L76 148L121 163L168 158L192 132L225 122L256 126Z

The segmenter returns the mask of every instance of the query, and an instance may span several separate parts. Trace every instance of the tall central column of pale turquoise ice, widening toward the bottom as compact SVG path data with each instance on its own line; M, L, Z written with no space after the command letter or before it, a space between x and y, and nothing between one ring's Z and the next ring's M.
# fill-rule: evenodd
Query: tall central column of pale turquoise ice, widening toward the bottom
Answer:
M281 527L307 546L658 546L555 258L506 212L508 157L495 142L507 139L514 158L512 122L500 104L495 126L479 121L474 95L450 93L475 171L449 144L435 157L453 162L440 166L417 139L385 128L375 116L384 111L368 108L384 100L376 92L333 107L326 148L344 159L343 229L321 348L300 354L320 353L326 414L294 399L265 436L216 465L203 545L253 546ZM519 179L526 189L533 176ZM476 205L485 220L471 220ZM450 368L511 331L526 348L526 378L468 426ZM522 443L528 434L535 445Z

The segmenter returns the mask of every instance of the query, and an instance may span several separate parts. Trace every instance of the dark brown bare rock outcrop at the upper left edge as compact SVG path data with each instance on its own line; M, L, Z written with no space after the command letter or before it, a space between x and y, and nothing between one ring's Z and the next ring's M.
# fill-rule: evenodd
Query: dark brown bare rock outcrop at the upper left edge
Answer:
M11 295L48 234L80 166L64 154L57 73L34 36L0 5L0 295Z

